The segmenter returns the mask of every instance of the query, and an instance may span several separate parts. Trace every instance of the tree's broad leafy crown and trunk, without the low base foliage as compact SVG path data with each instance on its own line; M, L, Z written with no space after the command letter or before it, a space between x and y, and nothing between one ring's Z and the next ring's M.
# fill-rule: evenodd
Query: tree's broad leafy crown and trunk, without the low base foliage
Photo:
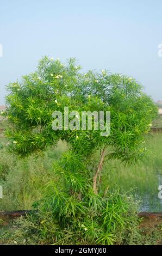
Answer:
M48 208L62 224L73 216L75 220L82 220L83 228L83 222L88 222L85 217L88 211L91 224L95 223L93 230L100 234L102 229L104 243L111 243L113 236L110 236L110 242L105 238L108 237L105 226L107 193L103 195L98 191L103 162L119 159L132 164L145 155L144 139L157 114L157 107L131 77L109 74L106 70L101 74L93 71L82 74L80 70L74 59L64 65L59 60L44 57L37 71L23 76L21 82L10 83L5 112L10 123L7 137L11 142L10 150L22 156L57 145L60 139L67 142L68 151L63 154L61 163L54 163L55 175L59 178L57 183L52 183L52 190L47 191L46 196L51 198ZM65 120L65 107L80 115L83 111L109 111L110 135L101 136L101 130L77 130L77 127L64 130L64 121L63 129L54 131L52 114L60 111ZM103 123L105 125L105 118ZM94 169L91 163L96 150L101 150L101 159ZM92 214L92 209L96 215ZM102 224L97 218L99 211L104 220ZM72 220L71 225L74 225ZM98 235L92 240L96 241L96 237Z

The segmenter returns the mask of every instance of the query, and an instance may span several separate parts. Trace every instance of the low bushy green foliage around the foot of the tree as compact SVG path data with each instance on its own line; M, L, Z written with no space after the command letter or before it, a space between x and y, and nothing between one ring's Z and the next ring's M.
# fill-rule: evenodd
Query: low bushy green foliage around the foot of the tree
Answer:
M94 203L84 202L71 205L66 202L60 216L55 216L51 198L46 197L46 209L42 204L39 211L27 218L21 217L14 221L14 227L6 235L10 236L9 242L15 240L19 244L53 244L53 245L113 245L124 243L126 234L131 233L139 224L136 216L137 203L132 197L121 195L119 192L111 193L107 198L95 196L93 202L100 204L95 210ZM63 194L60 195L61 200ZM49 199L49 201L48 201ZM48 204L49 203L49 204ZM55 209L63 206L58 200ZM67 206L68 205L68 206ZM83 210L84 209L84 210ZM7 238L4 234L5 239Z

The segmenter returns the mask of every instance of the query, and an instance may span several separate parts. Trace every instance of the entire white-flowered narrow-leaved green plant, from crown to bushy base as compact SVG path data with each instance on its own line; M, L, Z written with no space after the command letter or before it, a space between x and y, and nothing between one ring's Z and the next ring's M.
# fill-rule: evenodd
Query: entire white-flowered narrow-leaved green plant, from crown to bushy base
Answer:
M157 115L152 99L132 77L107 70L85 74L75 59L63 64L47 56L34 73L7 89L3 114L9 122L6 136L12 153L28 157L59 141L67 144L61 160L53 161L55 179L33 205L36 213L17 221L21 233L26 229L25 236L32 234L43 244L121 242L120 234L129 234L138 224L136 204L119 190L110 192L110 184L102 190L102 169L110 159L134 164L147 154L145 137ZM80 116L83 111L109 112L109 134L101 136L94 124L91 130L78 129L76 115L70 117L73 129L65 129L66 107ZM63 113L63 125L53 130L56 111ZM107 127L105 118L103 123Z

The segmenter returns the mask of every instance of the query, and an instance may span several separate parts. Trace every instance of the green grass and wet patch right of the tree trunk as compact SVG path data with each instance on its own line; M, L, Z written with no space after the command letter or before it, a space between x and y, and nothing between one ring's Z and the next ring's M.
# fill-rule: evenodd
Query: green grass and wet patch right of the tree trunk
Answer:
M132 191L135 198L141 200L141 209L147 211L162 211L162 202L158 198L158 186L162 177L162 134L149 133L147 135L148 156L144 162L126 167L114 160L105 163L102 175L104 190L122 188L123 191Z

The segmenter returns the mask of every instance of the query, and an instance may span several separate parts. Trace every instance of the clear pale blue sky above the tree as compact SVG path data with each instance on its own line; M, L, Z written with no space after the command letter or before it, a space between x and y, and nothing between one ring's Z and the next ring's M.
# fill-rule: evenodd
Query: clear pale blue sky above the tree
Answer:
M161 0L0 0L0 105L45 55L134 77L162 99L161 10Z

